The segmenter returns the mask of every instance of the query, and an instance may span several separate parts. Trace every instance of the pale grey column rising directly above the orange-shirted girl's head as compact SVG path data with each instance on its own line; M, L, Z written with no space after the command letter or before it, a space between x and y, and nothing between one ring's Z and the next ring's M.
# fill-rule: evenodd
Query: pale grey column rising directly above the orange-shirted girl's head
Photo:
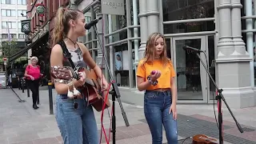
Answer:
M159 0L147 0L147 23L148 23L148 36L154 32L159 32L159 19L158 15L158 2Z

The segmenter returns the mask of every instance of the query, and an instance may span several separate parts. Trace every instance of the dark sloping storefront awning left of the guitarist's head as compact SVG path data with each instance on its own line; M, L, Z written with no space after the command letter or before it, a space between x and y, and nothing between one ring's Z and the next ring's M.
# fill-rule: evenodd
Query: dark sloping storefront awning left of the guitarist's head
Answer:
M20 58L23 54L26 54L27 50L32 49L36 44L38 44L39 41L42 41L42 38L44 38L49 32L42 35L41 38L38 38L35 42L32 42L30 46L26 46L26 48L18 51L16 54L13 54L8 58L8 62L13 62L17 58Z

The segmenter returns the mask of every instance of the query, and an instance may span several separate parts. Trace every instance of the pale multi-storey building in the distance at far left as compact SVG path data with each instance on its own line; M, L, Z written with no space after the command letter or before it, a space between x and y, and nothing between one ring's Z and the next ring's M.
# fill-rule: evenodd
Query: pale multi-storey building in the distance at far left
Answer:
M26 19L26 0L2 0L0 10L0 45L8 40L9 33L10 38L24 48L26 34L21 31L21 20ZM0 65L0 71L2 70L3 65Z

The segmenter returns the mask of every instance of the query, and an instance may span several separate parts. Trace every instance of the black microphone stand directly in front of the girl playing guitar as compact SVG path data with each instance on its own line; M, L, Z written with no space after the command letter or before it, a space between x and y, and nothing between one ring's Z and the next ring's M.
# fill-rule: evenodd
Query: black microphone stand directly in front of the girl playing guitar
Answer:
M98 44L100 46L100 49L102 50L103 52L103 46L102 46L102 42L98 36L98 30L97 30L97 26L96 26L96 23L94 25L94 31L96 33L96 36L98 38ZM115 144L115 134L116 134L116 117L115 117L115 98L118 99L118 103L119 103L119 106L121 108L121 111L122 111L122 117L126 123L126 126L130 126L129 122L128 122L128 119L126 117L126 112L125 110L123 110L123 107L122 107L122 102L120 100L120 97L121 97L121 94L118 90L118 85L116 82L114 82L114 78L113 78L113 75L111 74L111 71L110 71L110 66L108 65L107 61L106 61L106 57L105 55L103 54L103 58L104 58L104 61L105 61L105 64L106 64L106 68L110 74L110 80L112 81L112 86L113 86L113 89L109 92L111 95L112 95L112 108L113 108L113 113L112 113L112 143Z

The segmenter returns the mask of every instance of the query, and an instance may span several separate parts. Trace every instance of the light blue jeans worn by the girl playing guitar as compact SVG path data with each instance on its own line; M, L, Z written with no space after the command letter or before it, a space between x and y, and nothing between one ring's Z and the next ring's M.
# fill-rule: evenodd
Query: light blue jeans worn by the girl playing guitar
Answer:
M98 144L98 129L92 106L85 99L56 98L56 121L64 144ZM78 109L74 109L74 102Z

